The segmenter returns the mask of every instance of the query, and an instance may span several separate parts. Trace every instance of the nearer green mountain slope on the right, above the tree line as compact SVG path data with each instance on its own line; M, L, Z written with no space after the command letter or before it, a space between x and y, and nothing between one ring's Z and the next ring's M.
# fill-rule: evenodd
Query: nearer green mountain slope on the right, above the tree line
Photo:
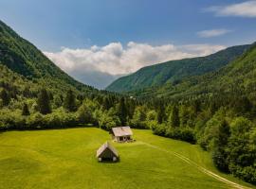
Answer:
M220 70L202 76L186 77L179 83L166 83L129 92L140 97L182 98L202 94L229 94L236 91L252 96L256 91L256 43Z

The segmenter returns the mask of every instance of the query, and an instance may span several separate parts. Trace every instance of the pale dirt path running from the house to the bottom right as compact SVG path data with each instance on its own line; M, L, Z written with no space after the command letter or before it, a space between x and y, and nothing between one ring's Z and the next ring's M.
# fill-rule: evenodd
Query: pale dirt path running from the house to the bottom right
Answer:
M221 176L219 176L219 175L217 175L217 174L211 172L210 170L204 168L203 166L200 166L200 165L197 164L197 163L192 162L192 160L190 160L189 158L187 158L187 157L185 157L185 156L183 156L183 155L181 155L181 154L179 154L179 153L176 153L176 152L174 152L174 151L169 151L169 150L163 149L163 148L161 148L161 147L159 147L159 146L155 146L155 145L151 145L151 144L145 143L145 142L143 142L143 141L140 141L140 142L141 142L142 144L146 145L146 146L150 146L150 147L152 147L152 148L155 148L155 149L164 151L164 152L166 152L166 153L172 154L172 155L176 156L177 158L179 158L180 160L182 160L182 161L184 161L184 162L186 162L186 163L189 163L189 164L195 166L198 170L200 170L201 172L203 172L203 173L209 175L210 177L212 177L212 178L214 178L214 179L216 179L216 180L220 180L220 181L222 181L222 182L227 183L227 184L228 184L230 187L232 187L232 188L250 189L250 188L247 187L247 186L243 186L243 185L240 185L240 184L235 183L235 182L233 182L233 181L227 180L227 179L225 179L225 178L223 178L223 177L221 177Z

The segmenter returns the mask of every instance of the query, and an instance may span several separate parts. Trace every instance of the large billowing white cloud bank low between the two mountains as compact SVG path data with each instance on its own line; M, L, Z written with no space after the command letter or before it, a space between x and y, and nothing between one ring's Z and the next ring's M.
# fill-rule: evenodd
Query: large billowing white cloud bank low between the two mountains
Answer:
M133 73L144 66L167 60L206 56L223 48L223 45L210 44L153 46L130 42L126 45L109 43L105 46L93 45L81 49L62 47L60 52L45 54L72 77L102 88L102 78L109 79L104 80L104 83L109 83L119 75ZM90 73L95 73L95 78Z

